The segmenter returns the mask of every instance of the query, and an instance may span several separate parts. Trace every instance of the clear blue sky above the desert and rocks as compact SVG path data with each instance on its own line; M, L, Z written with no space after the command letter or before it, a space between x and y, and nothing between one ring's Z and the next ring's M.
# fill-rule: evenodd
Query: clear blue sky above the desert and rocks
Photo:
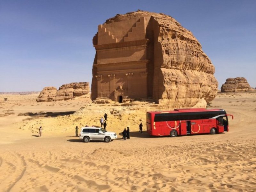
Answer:
M97 26L138 9L170 15L192 31L219 88L238 76L256 87L255 0L0 0L0 92L91 84Z

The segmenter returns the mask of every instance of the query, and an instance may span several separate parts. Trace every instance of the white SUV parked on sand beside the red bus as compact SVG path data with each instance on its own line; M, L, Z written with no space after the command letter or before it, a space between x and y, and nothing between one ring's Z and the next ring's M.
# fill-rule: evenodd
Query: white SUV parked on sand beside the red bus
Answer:
M79 139L82 139L85 143L90 142L90 140L104 140L108 143L116 138L115 132L106 131L102 127L81 127L79 136Z

